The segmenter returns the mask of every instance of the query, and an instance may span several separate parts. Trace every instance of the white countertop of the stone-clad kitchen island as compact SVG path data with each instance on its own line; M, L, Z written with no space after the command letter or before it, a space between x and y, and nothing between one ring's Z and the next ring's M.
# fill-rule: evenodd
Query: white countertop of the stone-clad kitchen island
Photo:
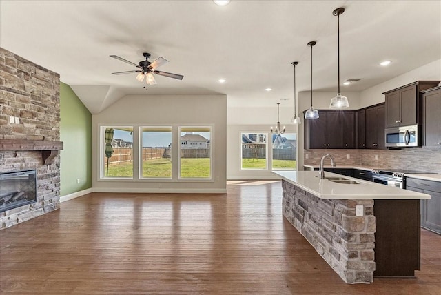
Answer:
M325 172L325 177L341 177L357 181L358 184L335 183L328 179L319 179L317 171L273 171L282 179L303 190L318 196L320 199L431 199L429 194L411 190L402 190L353 177Z

